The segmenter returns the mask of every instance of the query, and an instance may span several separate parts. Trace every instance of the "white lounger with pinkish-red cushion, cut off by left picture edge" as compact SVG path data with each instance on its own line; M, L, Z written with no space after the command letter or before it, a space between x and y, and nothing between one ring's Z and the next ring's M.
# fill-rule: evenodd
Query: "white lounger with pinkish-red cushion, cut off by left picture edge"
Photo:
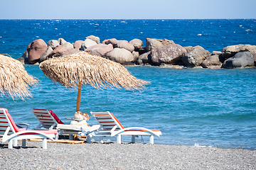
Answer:
M8 148L17 146L17 140L22 140L22 147L26 147L26 139L43 138L43 149L47 149L47 139L53 140L58 135L57 130L26 130L18 128L6 108L0 108L0 136L1 142L8 142Z

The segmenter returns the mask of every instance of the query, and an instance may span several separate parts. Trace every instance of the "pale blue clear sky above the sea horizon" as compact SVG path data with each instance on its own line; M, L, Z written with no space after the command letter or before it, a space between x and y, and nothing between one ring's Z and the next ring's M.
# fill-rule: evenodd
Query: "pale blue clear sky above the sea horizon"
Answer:
M0 19L256 18L255 0L3 0Z

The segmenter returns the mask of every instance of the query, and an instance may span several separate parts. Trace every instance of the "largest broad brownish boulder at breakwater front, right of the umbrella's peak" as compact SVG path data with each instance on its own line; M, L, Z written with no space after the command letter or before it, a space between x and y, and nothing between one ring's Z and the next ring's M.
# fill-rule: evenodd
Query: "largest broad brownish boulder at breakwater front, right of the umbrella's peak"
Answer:
M185 48L178 44L154 47L151 50L151 60L155 64L178 64L181 57L186 54Z

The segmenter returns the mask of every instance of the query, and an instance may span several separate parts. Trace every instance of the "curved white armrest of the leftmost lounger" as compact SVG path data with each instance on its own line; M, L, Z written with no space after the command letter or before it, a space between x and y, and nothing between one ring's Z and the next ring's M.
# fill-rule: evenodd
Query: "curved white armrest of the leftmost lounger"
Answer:
M41 137L45 137L45 138L48 138L53 141L53 137L50 137L49 135L47 135L43 132L36 131L36 130L23 130L21 132L16 132L12 135L7 135L9 130L10 130L10 127L8 127L6 129L6 132L4 132L2 142L6 142L7 140L13 140L15 137L18 137L19 135L26 135L26 133L35 133L35 135L40 135Z

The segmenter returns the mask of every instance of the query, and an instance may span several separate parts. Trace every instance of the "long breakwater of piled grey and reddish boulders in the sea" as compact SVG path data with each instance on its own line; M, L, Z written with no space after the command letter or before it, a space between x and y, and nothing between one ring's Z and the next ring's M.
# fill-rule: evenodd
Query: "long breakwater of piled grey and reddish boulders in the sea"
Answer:
M202 67L210 69L254 67L256 45L231 45L221 52L208 52L201 46L182 47L173 40L146 38L146 46L139 39L131 41L115 38L103 40L90 35L73 43L63 38L50 40L47 45L41 39L28 45L18 58L23 64L37 64L53 57L64 57L80 50L105 57L123 65L153 65L174 68Z

